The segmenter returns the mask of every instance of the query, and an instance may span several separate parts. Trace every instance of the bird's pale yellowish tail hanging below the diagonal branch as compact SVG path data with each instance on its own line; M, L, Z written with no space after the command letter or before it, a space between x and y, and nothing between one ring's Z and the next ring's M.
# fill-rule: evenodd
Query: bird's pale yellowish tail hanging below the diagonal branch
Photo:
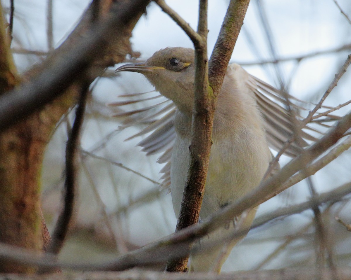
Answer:
M257 207L242 214L238 217L238 222L231 223L229 228L221 227L216 231L204 237L200 243L193 246L196 253L190 255L190 268L189 272L217 272L220 273L221 267L225 260L228 258L232 248L241 240L245 235L235 237L234 239L226 242L221 242L224 238L229 236L234 229L249 231L252 221L256 215ZM217 243L214 247L205 250L208 244ZM202 248L201 248L202 247Z

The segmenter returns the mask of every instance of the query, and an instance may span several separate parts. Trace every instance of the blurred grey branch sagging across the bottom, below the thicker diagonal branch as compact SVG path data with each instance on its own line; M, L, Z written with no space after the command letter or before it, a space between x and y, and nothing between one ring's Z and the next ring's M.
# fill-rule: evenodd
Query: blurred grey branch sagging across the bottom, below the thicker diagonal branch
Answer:
M351 183L349 182L349 183L343 184L342 186L332 191L317 195L314 200L314 203L317 203L317 204L335 203L337 201L342 200L342 198L345 195L349 194L350 192L351 192ZM261 226L263 224L266 224L267 222L272 221L272 219L303 212L311 208L311 206L312 206L311 202L307 201L307 202L303 202L290 207L278 209L273 213L269 213L255 219L251 228L257 228L258 226ZM223 223L223 220L216 221L216 219L218 218L221 219L219 215L217 215L215 219L212 218L212 221L210 223L220 223L220 224ZM210 223L206 222L207 224L206 227L210 225ZM203 228L203 230L199 231L199 229L201 228ZM149 244L136 251L130 252L110 262L72 263L72 261L69 261L69 262L58 261L55 255L53 254L43 253L42 255L40 255L37 252L33 252L31 250L25 250L23 248L18 248L16 246L11 246L4 243L0 243L0 259L6 258L6 259L19 261L23 264L38 265L40 267L60 266L62 268L77 269L77 270L81 270L81 269L87 270L94 267L94 270L110 270L111 268L114 268L115 270L117 269L123 270L123 269L133 267L134 265L137 265L138 261L144 264L152 264L153 262L158 262L160 259L164 259L165 255L168 256L169 251L166 250L167 246L168 247L171 247L172 245L180 246L181 244L184 244L184 242L187 242L187 243L191 242L196 238L199 238L205 235L204 230L206 231L206 228L204 228L204 223L198 224L196 226L193 226L192 228L187 228L181 232L178 232L174 235L163 238L159 241ZM234 236L240 236L243 234L246 235L246 231L245 233L243 231L241 232L236 231L236 232L233 232L232 236L228 238L233 238ZM165 255L161 255L160 252L162 252L162 254L165 254ZM151 253L153 256L155 256L155 258L150 257Z

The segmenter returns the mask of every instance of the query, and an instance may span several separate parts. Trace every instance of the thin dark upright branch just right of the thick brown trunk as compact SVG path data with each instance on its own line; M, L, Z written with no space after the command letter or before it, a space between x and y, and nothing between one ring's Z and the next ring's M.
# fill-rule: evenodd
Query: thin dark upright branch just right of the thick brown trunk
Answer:
M72 126L71 133L69 133L66 145L66 179L64 184L64 209L62 210L55 229L52 234L52 241L47 252L58 253L68 230L68 224L72 217L73 202L74 202L74 185L76 177L75 158L77 153L77 142L79 139L79 132L84 119L85 103L88 95L89 83L84 82L81 86L80 98L75 111L75 119Z

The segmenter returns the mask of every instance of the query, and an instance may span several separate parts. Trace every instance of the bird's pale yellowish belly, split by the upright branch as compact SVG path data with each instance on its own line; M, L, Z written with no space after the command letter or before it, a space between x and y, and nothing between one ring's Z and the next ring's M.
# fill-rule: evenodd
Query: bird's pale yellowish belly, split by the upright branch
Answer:
M184 127L177 131L171 159L173 208L179 215L189 163L190 137ZM205 218L257 187L271 159L265 138L234 131L231 137L213 135L204 200L200 216Z

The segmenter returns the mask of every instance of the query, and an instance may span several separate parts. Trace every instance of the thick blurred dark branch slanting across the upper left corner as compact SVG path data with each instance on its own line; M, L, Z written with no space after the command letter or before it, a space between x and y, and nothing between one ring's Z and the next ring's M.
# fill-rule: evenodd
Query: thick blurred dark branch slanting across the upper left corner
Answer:
M118 10L112 8L106 18L93 25L82 36L82 41L62 54L57 63L45 69L30 83L7 92L0 97L0 130L28 116L64 92L77 76L89 68L98 55L102 55L110 41L122 38L124 26L135 14L144 10L150 0L131 0ZM113 30L113 31L112 31Z

